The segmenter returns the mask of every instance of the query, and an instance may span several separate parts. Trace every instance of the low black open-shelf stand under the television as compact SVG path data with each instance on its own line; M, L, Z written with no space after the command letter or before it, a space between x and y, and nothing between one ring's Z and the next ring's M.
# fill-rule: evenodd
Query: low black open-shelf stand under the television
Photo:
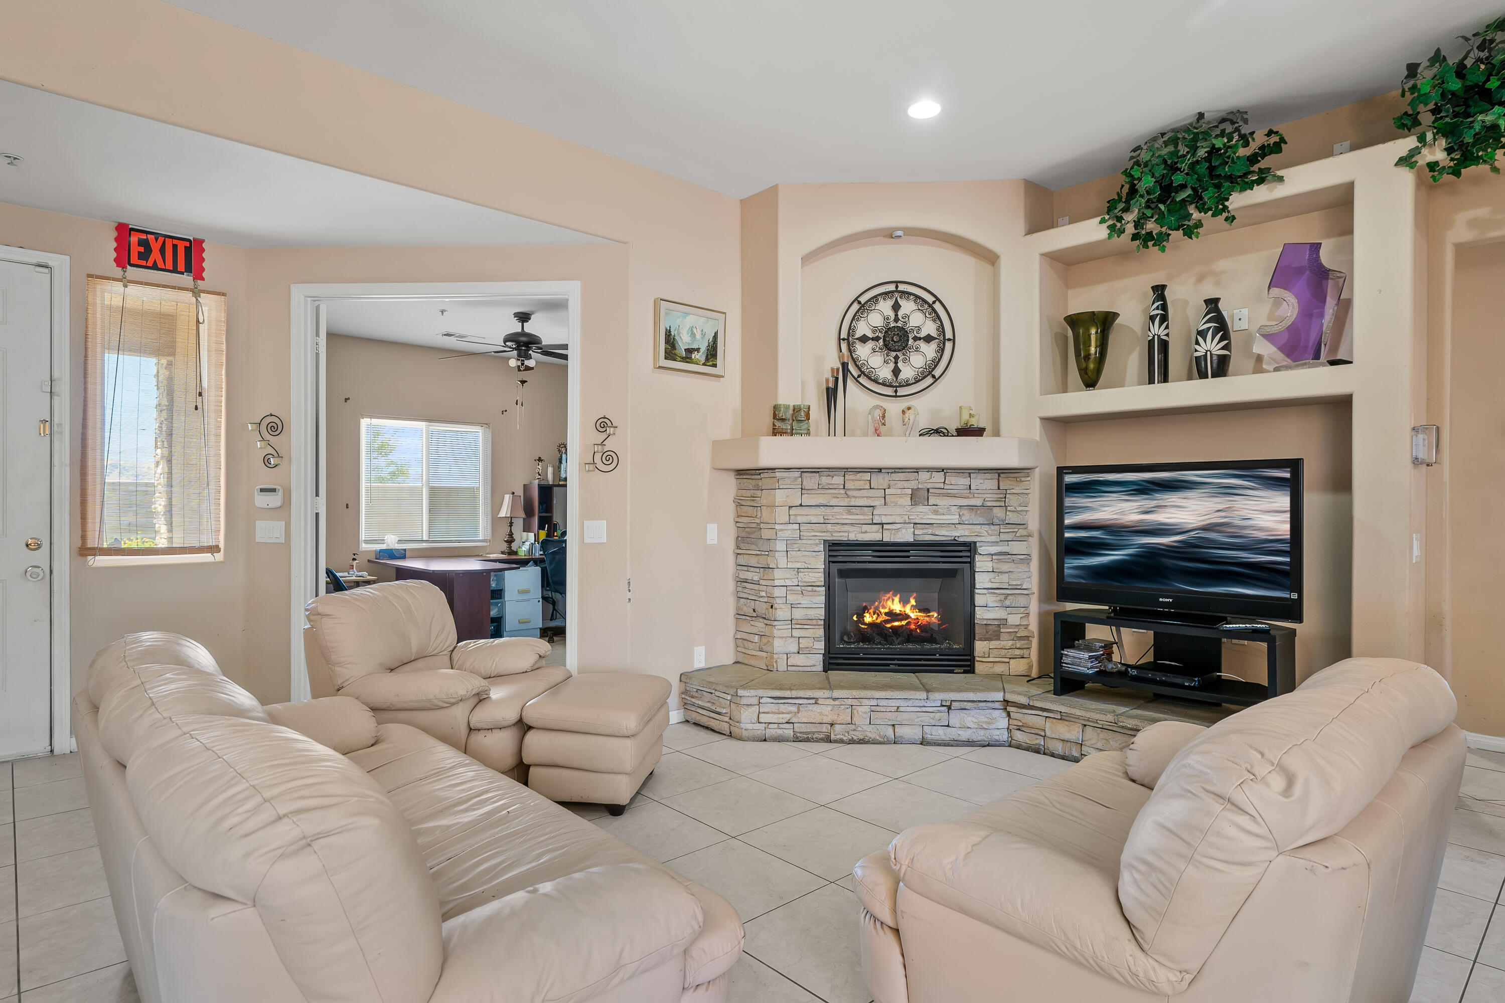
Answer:
M1166 614L1177 620L1166 620ZM1055 666L1057 696L1073 693L1090 683L1115 689L1141 690L1160 696L1209 704L1236 704L1249 707L1260 701L1290 693L1296 689L1296 629L1282 624L1267 624L1269 630L1227 630L1219 624L1227 617L1210 617L1210 623L1181 623L1183 617L1196 614L1171 614L1169 611L1139 609L1061 609L1054 614L1055 641L1052 663ZM1242 620L1242 623L1260 623ZM1123 630L1150 630L1154 633L1154 662L1160 672L1181 674L1187 683L1133 678L1127 674L1081 672L1061 665L1061 648L1070 648L1087 636L1090 624L1120 627ZM1248 683L1213 675L1192 684L1192 678L1209 677L1222 671L1222 642L1245 641L1261 644L1266 650L1267 683ZM1123 651L1117 653L1123 657Z

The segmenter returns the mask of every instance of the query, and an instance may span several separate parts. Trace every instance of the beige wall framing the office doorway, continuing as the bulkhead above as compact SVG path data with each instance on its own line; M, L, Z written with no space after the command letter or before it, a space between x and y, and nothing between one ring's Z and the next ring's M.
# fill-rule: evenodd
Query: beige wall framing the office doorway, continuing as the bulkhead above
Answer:
M245 380L235 395L256 415L286 408L292 283L579 278L582 427L608 415L622 456L616 472L581 483L578 514L607 519L608 541L581 549L581 603L600 630L581 636L579 663L677 683L694 645L712 665L731 660L733 534L707 546L704 526L733 522L733 478L709 460L710 441L740 427L737 200L158 0L8 5L5 17L0 77L14 83L620 241L604 259L500 248L507 268L474 248L266 253L250 311L256 350L230 379ZM613 263L605 277L597 262ZM727 311L727 379L653 368L656 296ZM257 638L266 654L247 672L265 683L251 689L284 698L286 553L236 573L247 598L223 630Z

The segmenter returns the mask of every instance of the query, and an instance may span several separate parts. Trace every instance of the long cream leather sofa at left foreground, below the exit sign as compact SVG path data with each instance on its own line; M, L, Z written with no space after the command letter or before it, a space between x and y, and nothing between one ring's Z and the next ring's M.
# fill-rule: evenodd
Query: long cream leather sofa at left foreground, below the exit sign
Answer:
M406 725L131 635L74 717L147 1003L706 1003L725 899Z

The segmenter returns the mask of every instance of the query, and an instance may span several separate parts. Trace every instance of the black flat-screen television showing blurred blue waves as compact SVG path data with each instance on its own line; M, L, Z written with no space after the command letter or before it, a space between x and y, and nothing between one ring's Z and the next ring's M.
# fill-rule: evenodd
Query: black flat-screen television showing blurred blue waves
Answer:
M1302 460L1061 466L1055 496L1058 601L1302 621Z

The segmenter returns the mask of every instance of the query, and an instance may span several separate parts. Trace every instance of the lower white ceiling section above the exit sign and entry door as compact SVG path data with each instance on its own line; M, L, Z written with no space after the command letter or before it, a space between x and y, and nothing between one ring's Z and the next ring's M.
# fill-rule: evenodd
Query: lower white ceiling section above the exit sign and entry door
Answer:
M0 202L235 247L611 244L0 81Z

